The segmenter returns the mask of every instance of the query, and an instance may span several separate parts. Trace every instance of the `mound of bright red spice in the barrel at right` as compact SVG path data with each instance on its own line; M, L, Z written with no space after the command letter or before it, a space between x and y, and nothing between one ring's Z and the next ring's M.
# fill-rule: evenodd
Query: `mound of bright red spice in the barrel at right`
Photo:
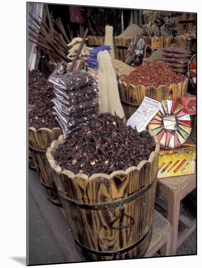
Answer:
M161 85L169 86L184 81L184 78L173 72L171 67L159 60L151 60L138 66L124 80L127 84L134 86L143 85L158 87Z

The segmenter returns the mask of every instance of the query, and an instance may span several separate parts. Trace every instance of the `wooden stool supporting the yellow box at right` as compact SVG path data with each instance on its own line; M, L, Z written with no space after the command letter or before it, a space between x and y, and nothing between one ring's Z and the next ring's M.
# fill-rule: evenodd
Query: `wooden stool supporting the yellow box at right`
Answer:
M176 255L177 248L196 229L196 219L191 221L180 214L181 200L195 188L196 174L157 180L157 194L162 195L168 201L166 208L164 202L158 197L156 198L156 203L167 210L167 219L172 224L172 255ZM186 229L178 236L179 220Z

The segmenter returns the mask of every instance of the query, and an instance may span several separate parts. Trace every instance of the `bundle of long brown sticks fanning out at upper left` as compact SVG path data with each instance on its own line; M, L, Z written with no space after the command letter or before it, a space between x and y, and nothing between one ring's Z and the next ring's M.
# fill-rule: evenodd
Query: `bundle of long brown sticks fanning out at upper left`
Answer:
M47 21L40 22L29 14L29 40L36 43L49 57L52 62L60 62L62 59L70 61L67 58L68 47L67 44L73 39L72 32L70 31L69 25L68 35L64 29L61 19L54 20L60 32L58 32L53 26L53 20L50 16L47 5ZM42 19L41 19L42 21ZM81 29L82 32L82 29Z

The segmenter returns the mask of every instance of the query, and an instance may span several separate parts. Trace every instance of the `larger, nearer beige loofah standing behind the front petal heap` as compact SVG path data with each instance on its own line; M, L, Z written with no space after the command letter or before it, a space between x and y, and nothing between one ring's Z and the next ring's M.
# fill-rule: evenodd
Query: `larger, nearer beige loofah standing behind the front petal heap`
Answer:
M99 112L110 112L123 118L118 81L108 51L99 52L98 63Z

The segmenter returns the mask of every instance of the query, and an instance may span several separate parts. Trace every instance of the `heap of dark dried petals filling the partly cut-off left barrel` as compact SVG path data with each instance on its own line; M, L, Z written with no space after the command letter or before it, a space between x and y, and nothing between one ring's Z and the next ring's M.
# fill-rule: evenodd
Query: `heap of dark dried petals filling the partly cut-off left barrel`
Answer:
M59 127L58 121L52 114L51 99L54 97L53 86L42 77L42 73L39 70L29 71L29 104L35 106L29 112L29 127L36 129Z

